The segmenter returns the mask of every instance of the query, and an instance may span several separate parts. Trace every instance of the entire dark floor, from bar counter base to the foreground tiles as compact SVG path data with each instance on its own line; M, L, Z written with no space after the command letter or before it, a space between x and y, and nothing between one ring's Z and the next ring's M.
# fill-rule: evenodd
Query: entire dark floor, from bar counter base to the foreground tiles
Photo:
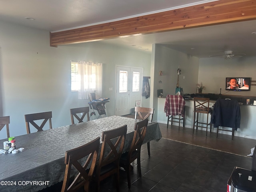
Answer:
M234 166L251 169L250 148L256 140L230 135L159 124L162 139L150 142L151 156L142 145L142 178L136 161L132 164L132 187L128 189L126 173L120 170L121 192L226 192L227 180ZM95 184L92 184L94 187ZM114 178L101 182L101 192L116 191ZM49 191L49 190L47 190ZM53 191L58 191L54 189ZM92 191L95 191L92 189Z

